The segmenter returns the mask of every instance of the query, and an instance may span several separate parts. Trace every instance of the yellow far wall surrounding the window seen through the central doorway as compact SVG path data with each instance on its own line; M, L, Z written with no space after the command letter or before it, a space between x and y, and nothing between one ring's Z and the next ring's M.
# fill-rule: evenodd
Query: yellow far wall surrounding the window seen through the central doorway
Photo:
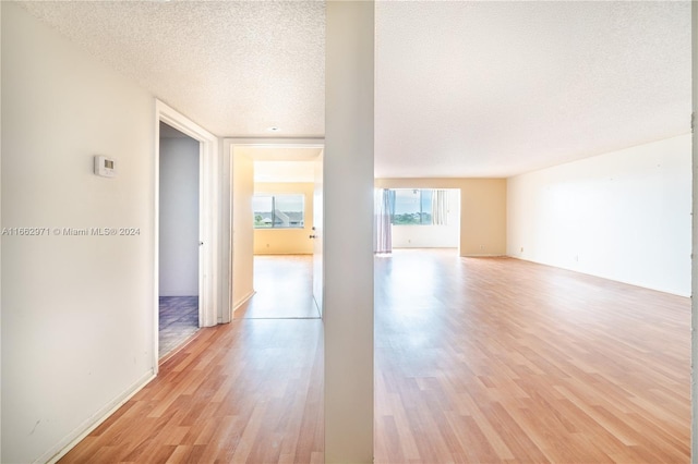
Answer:
M315 184L305 182L254 184L255 193L302 194L305 198L305 219L303 229L255 229L255 255L312 255L313 240L313 191Z

